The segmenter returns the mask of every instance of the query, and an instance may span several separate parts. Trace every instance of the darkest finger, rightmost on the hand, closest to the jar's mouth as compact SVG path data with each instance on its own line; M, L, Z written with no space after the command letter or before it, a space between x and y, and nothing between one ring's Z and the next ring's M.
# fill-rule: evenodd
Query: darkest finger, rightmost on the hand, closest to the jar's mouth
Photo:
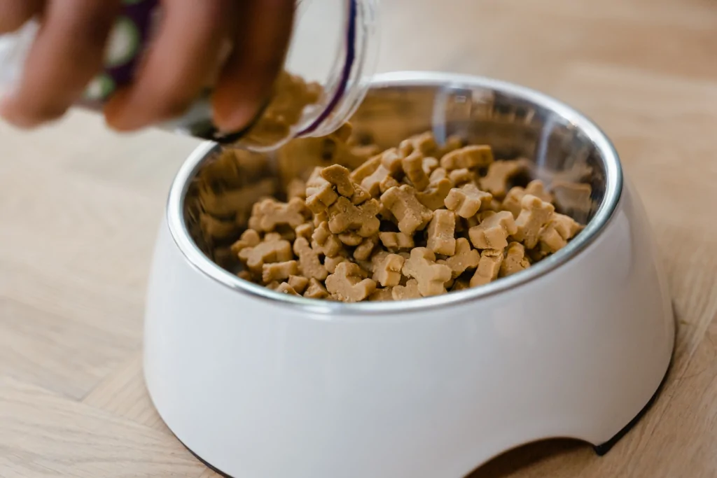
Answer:
M234 52L214 92L214 123L225 132L244 128L270 95L292 34L294 0L244 0Z

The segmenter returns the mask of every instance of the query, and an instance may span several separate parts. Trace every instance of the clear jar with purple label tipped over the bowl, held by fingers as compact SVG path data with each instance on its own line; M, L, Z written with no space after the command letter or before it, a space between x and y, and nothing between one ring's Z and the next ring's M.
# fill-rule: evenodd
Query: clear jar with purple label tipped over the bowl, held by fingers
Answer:
M359 107L376 64L378 0L297 0L293 37L284 71L257 118L242 131L222 133L212 122L211 87L186 114L158 125L255 151L273 150L293 138L327 135ZM101 110L118 87L131 82L161 17L159 0L125 0L105 56L80 105ZM37 24L0 38L0 82L18 80ZM240 87L240 85L239 85Z

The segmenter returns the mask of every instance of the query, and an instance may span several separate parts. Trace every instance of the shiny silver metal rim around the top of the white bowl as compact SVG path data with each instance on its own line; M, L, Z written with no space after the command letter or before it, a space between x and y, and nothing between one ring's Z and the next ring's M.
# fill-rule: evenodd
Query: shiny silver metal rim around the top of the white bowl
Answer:
M525 271L513 274L509 277L503 277L495 282L490 282L488 285L462 290L460 292L450 292L449 294L414 300L358 303L315 300L286 295L267 289L261 285L253 284L244 279L239 279L239 277L234 274L222 269L222 267L219 267L219 265L206 257L194 240L191 239L184 219L184 199L189 190L191 179L194 178L197 171L199 171L204 160L217 148L217 143L206 141L199 145L181 166L174 178L168 196L166 207L167 224L170 234L181 254L183 254L189 264L201 272L201 274L219 283L222 287L229 288L229 290L255 299L265 300L275 305L292 307L294 310L303 310L304 312L308 312L305 317L312 317L318 320L338 320L341 317L352 316L381 315L385 317L386 315L406 314L416 310L437 309L498 295L520 285L532 282L554 271L570 259L576 257L579 252L584 251L589 244L592 244L592 242L597 239L600 232L605 229L614 211L617 209L622 193L622 166L620 165L617 150L615 150L614 145L612 145L607 135L605 135L592 120L589 120L589 118L574 110L574 108L541 92L485 77L441 72L392 72L376 75L371 81L371 89L412 86L478 87L485 90L493 90L505 95L521 98L521 100L526 100L546 110L550 110L574 125L596 145L597 150L604 160L606 171L604 198L596 214L591 221L589 221L585 229L559 252L543 259Z

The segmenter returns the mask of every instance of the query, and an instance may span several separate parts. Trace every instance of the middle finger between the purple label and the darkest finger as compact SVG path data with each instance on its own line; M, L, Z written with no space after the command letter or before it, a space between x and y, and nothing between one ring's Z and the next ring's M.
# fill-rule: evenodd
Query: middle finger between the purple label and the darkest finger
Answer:
M133 85L105 107L108 124L136 130L184 113L216 66L237 0L166 0L155 43Z

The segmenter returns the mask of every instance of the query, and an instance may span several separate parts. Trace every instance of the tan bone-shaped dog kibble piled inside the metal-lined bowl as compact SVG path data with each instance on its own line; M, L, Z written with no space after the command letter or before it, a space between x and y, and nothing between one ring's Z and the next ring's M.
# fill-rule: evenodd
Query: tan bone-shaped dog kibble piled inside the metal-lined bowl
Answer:
M574 196L589 202L587 183L558 190L530 181L529 161L504 161L460 138L440 145L423 133L380 150L351 135L346 125L295 140L279 151L278 171L265 156L223 151L192 186L194 236L244 280L360 302L485 285L558 252L583 229L556 208L573 214Z

